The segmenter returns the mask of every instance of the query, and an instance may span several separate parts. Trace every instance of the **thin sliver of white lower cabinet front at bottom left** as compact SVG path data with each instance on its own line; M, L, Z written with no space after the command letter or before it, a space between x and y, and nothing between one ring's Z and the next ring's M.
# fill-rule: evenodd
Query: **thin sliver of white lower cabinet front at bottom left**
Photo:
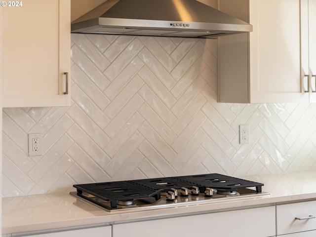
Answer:
M86 229L77 229L70 231L55 231L52 230L51 233L44 234L34 234L34 235L21 235L21 234L12 234L12 237L15 236L26 236L26 237L112 237L112 227L111 226L102 226L102 227L92 227Z

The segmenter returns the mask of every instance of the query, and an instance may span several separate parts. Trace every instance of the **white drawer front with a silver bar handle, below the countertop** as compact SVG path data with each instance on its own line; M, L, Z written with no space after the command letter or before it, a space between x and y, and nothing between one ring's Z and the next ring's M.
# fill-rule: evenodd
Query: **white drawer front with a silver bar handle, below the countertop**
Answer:
M277 235L316 230L316 218L295 219L315 216L316 201L278 205L276 206L276 213Z

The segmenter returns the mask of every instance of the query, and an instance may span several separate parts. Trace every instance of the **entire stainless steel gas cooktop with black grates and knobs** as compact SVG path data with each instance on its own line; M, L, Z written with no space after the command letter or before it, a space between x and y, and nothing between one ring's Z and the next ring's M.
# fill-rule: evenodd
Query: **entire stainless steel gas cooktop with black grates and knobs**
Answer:
M71 194L112 212L269 196L262 192L263 185L213 173L77 184L74 185L77 192Z

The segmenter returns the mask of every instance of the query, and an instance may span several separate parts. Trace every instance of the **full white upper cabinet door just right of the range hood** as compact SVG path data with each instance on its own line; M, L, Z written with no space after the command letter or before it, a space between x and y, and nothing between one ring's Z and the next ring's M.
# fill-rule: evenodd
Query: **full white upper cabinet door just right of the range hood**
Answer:
M301 68L300 34L301 15L308 12L301 10L307 9L301 9L300 0L250 1L254 28L250 33L251 103L309 101L309 94L304 93L308 71ZM302 45L307 45L302 52L308 52L308 41Z

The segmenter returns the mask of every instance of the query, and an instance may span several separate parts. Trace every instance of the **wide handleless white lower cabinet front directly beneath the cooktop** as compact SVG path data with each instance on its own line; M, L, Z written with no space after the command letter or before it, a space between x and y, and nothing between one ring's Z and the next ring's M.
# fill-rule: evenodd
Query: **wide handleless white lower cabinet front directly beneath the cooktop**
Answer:
M114 224L113 237L275 237L275 206Z

